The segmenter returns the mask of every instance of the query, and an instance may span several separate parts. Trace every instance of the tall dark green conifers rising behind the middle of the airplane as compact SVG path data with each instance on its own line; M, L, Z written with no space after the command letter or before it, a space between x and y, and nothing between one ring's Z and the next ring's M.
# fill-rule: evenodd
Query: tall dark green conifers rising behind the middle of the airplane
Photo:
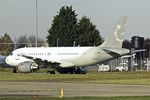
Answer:
M77 18L72 6L63 6L54 16L48 30L49 46L98 46L104 39L90 18Z

